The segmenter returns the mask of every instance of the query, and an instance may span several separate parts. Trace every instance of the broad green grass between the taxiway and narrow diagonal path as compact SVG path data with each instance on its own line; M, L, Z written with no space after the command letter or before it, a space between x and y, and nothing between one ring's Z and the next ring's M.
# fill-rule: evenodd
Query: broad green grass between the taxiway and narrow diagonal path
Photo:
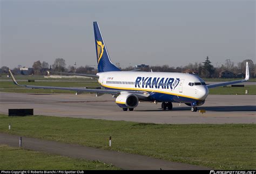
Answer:
M8 130L9 123L11 130ZM0 116L3 133L226 170L255 169L255 129L255 124L172 125L53 116ZM112 136L111 148L109 136Z

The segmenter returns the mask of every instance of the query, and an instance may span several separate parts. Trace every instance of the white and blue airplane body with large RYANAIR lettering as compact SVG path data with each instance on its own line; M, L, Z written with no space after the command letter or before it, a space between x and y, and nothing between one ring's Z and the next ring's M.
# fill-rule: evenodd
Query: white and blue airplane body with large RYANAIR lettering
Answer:
M181 102L203 105L208 88L197 75L165 72L102 72L98 82L106 89L145 91L150 94L143 101Z

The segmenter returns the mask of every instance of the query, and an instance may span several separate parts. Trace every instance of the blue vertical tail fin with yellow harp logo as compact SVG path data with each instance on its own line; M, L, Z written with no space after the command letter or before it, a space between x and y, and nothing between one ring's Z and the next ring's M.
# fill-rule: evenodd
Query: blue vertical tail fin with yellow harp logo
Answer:
M104 43L102 33L99 30L99 25L97 22L93 22L93 29L95 35L98 71L121 71L118 67L114 66L110 60L109 53L107 53L107 48Z

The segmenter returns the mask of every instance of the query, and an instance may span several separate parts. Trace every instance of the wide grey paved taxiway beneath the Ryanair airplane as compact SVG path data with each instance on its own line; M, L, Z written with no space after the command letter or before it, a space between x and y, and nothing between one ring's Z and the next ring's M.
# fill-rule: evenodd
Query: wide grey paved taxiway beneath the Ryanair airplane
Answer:
M202 115L190 107L173 103L163 111L160 104L140 102L133 112L123 112L111 95L95 94L22 94L0 93L0 113L11 108L33 108L35 115L81 117L86 119L124 120L160 124L255 123L256 95L209 95Z

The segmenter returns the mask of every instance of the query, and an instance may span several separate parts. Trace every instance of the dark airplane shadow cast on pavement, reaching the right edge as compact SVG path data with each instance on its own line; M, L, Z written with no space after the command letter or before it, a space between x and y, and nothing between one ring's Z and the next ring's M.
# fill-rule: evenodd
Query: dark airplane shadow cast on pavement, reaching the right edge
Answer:
M256 111L256 106L205 106L205 107L197 107L199 109L205 109L205 110L210 110L210 111L215 111L215 112L252 112ZM190 110L191 107L173 107L172 110ZM134 110L136 112L171 112L172 110L161 110L159 109L154 109L154 110Z

